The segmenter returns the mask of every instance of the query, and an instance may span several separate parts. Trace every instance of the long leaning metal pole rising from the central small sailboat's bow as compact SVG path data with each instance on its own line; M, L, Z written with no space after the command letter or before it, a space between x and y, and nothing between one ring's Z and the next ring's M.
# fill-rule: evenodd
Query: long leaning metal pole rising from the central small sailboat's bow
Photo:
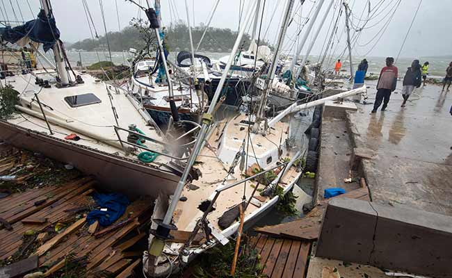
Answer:
M175 212L177 202L179 202L179 198L181 197L182 190L184 190L184 186L186 183L186 179L188 177L188 174L191 171L191 167L193 167L193 163L195 163L195 159L197 158L197 155L201 151L202 142L204 141L204 136L206 136L207 129L209 128L209 125L211 123L211 113L213 112L213 108L215 108L215 104L218 101L218 97L220 97L220 93L223 90L223 85L225 85L225 80L227 78L227 73L229 72L232 62L234 60L234 56L236 54L237 49L239 49L239 45L241 44L241 40L243 37L243 33L245 33L246 26L250 23L250 19L252 18L252 12L255 10L256 1L250 6L250 10L248 10L248 15L245 17L245 26L241 28L239 31L239 35L237 35L236 42L234 44L234 47L232 48L231 55L229 55L229 60L227 61L225 70L223 71L223 75L221 76L220 82L218 83L218 87L216 88L215 95L213 95L213 99L211 101L211 104L209 105L209 110L206 114L203 115L203 122L202 127L200 130L199 135L197 136L197 140L195 143L195 146L193 147L193 152L191 153L190 158L188 159L187 165L184 169L184 173L182 173L182 177L179 180L179 183L177 184L177 188L175 190L174 195L172 196L172 201L170 203L170 206L168 208L168 211L166 211L165 218L163 218L163 224L170 224L172 215Z

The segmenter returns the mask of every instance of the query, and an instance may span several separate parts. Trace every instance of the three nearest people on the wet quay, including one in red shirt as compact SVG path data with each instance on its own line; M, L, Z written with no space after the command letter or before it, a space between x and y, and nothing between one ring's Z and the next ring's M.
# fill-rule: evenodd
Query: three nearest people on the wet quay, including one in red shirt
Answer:
M408 98L413 92L414 88L419 88L421 84L426 85L426 79L428 74L428 62L421 63L419 60L413 60L411 67L407 68L407 72L403 77L403 88L402 88L402 97L403 102L401 107L405 107ZM387 57L386 58L386 67L383 67L380 72L380 77L377 83L377 95L375 102L373 104L373 109L371 113L376 113L377 109L383 104L381 111L385 111L387 108L387 104L389 103L389 99L391 97L392 92L396 90L398 78L398 68L394 66L394 58ZM452 83L452 62L449 64L446 70L446 77L443 81L443 88L447 86L447 90L449 91L449 87Z

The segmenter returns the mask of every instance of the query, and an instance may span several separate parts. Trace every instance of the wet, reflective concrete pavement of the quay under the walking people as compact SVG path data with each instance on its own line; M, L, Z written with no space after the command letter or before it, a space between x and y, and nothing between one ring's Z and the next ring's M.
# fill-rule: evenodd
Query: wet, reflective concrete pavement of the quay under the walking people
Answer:
M375 83L368 85L373 102ZM452 215L452 92L427 85L401 108L401 88L399 83L387 111L369 115L372 104L358 105L360 110L349 117L357 147L377 154L363 160L371 197L382 204Z

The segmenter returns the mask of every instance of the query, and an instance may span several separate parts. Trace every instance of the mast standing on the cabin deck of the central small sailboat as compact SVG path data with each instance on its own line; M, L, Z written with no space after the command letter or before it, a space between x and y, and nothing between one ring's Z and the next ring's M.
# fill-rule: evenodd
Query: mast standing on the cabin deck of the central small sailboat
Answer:
M287 2L286 12L284 13L284 20L282 21L280 35L278 36L278 39L277 39L275 54L273 54L273 58L271 61L270 72L268 72L267 79L265 81L264 94L261 96L259 109L257 111L256 123L253 128L254 131L257 131L259 129L260 121L264 118L265 108L266 108L266 104L267 104L267 97L271 90L271 83L273 82L273 79L275 78L275 72L276 72L278 60L280 60L280 49L284 42L284 37L286 36L287 26L289 25L289 17L291 15L292 8L293 8L293 2L294 2L294 0L289 0Z

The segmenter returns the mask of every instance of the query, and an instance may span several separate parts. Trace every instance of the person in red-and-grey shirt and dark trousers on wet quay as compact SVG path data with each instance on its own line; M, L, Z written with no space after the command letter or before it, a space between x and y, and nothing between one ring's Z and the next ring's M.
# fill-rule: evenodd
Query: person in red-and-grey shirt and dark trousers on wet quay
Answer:
M397 85L398 69L394 66L394 58L386 58L386 67L383 67L380 72L380 77L377 83L377 96L375 98L375 103L373 104L373 110L371 113L376 113L378 107L380 107L383 102L381 111L385 111L389 99L391 98L391 93L396 90Z

